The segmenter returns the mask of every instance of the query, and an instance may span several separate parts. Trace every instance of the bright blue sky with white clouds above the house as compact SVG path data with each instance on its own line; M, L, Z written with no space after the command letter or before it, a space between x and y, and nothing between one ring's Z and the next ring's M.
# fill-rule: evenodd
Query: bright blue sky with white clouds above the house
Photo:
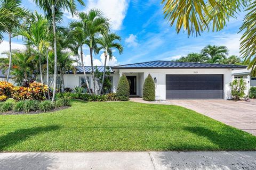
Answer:
M204 32L199 37L189 37L186 32L177 34L174 27L170 27L164 19L161 0L86 0L86 6L78 5L79 11L88 11L90 8L100 8L110 19L111 31L122 37L124 52L114 53L113 60L108 65L129 64L155 60L175 60L188 53L200 52L208 45L225 45L230 55L239 55L239 27L242 24L244 13L237 19L231 19L227 27L220 32ZM22 2L23 6L31 11L40 10L33 0ZM42 11L41 11L42 12ZM76 19L65 12L63 25ZM0 52L8 49L8 39L0 44ZM13 38L13 48L23 48L21 39ZM89 50L84 47L85 64L90 64ZM102 56L94 55L95 65L102 65Z

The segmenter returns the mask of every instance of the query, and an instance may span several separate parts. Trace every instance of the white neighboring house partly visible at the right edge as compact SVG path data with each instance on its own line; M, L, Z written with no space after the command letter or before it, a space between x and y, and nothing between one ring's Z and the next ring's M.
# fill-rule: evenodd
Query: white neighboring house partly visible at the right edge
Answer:
M239 70L233 70L232 71L232 75L234 76L235 79L248 79L248 81L250 81L250 86L256 86L256 77L252 77L251 75L251 69L248 70L247 68L245 69L239 69ZM250 77L248 77L250 76Z

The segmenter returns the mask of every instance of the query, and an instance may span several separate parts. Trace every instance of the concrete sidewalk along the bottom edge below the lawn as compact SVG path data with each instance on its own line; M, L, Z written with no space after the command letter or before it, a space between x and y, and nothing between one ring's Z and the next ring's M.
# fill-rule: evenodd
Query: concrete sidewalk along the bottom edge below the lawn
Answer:
M0 153L0 169L256 169L256 152Z

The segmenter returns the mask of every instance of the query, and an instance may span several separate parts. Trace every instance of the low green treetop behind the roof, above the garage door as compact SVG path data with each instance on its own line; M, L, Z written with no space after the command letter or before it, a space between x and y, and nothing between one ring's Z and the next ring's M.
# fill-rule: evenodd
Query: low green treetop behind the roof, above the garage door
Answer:
M209 57L203 56L198 53L190 53L185 57L181 57L177 62L194 62L194 63L206 63L209 60Z

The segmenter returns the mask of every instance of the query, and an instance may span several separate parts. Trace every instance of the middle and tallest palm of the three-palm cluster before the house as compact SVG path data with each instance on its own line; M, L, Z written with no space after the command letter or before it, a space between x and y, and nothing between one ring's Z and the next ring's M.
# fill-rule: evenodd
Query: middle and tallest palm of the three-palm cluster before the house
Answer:
M106 33L109 30L109 20L103 16L102 11L98 9L92 9L88 13L79 13L79 19L83 24L83 31L87 39L89 40L90 57L91 57L91 69L93 79L93 90L95 94L95 77L93 66L93 49L95 45L95 37L100 33Z

